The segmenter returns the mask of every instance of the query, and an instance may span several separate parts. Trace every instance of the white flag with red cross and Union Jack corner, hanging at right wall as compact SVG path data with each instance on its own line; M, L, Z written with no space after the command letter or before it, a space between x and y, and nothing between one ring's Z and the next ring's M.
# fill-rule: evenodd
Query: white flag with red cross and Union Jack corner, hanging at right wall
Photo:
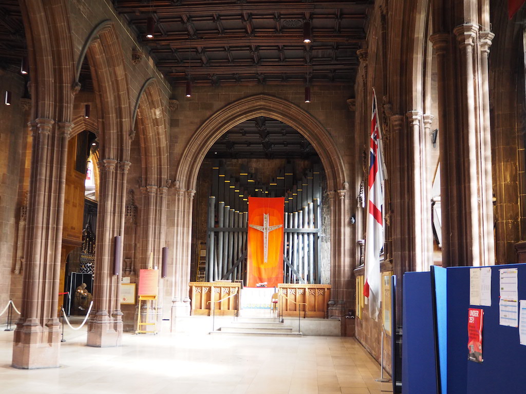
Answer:
M365 240L363 295L369 298L369 315L378 318L380 310L380 251L383 248L383 181L387 179L383 161L380 121L375 89L372 90L369 193Z

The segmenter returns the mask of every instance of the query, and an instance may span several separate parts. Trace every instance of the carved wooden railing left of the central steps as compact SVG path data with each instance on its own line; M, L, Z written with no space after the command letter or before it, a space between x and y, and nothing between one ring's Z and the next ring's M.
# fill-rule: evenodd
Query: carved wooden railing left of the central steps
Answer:
M210 316L211 309L218 316L236 314L239 308L240 283L190 282L189 286L192 315Z

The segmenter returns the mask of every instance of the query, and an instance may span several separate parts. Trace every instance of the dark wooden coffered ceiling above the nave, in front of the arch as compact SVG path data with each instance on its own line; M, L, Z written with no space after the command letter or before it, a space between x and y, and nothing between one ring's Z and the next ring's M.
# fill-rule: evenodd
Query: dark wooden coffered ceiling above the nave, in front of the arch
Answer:
M175 84L354 84L373 1L115 0ZM147 21L155 20L153 38ZM312 43L303 42L311 23Z

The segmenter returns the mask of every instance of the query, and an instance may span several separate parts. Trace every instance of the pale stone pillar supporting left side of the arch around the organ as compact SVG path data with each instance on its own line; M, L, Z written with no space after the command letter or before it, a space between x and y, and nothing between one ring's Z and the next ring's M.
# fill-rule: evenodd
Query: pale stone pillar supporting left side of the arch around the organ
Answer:
M177 182L176 182L177 184ZM173 255L172 284L172 330L175 329L175 319L190 315L190 256L192 231L192 205L195 190L176 189L175 195L175 235Z

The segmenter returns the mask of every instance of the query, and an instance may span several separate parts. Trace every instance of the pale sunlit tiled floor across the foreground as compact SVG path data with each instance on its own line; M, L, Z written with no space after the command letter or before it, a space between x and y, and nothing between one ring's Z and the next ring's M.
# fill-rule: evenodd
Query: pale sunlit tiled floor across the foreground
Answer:
M13 331L0 330L0 393L380 394L380 367L354 338L124 334L119 348L85 346L66 329L62 367L9 366ZM386 390L386 391L381 391Z

